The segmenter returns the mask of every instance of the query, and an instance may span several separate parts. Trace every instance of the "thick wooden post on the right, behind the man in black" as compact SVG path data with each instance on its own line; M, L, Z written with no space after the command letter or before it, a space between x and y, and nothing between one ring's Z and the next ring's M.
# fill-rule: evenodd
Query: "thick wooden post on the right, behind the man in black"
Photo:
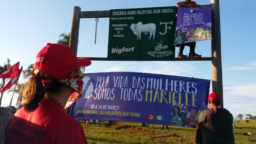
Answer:
M220 95L223 107L223 84L221 64L221 39L220 39L220 3L211 0L212 7L212 92Z

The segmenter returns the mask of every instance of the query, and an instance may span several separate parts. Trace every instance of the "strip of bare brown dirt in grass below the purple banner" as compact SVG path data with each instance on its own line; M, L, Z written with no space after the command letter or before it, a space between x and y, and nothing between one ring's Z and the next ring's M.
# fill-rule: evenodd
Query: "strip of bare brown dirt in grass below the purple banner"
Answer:
M116 130L124 130L126 132L129 132L132 135L148 137L153 141L163 143L163 144L178 144L178 143L193 144L195 141L195 139L193 138L181 137L181 136L178 136L177 134L173 134L170 131L167 131L166 129L164 131L158 131L150 128L146 129L138 126L129 126L126 124L118 124L118 123L104 123L104 125L114 128Z

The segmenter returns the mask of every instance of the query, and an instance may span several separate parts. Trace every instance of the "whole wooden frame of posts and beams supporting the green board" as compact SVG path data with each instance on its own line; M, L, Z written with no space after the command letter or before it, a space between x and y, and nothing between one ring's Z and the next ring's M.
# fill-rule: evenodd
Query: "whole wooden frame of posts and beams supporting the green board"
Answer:
M222 84L222 64L221 64L219 0L211 0L211 5L202 5L199 7L212 8L212 27L214 28L212 30L212 44L211 44L212 57L175 58L174 61L212 61L212 91L220 95L221 106L223 107L224 105L223 105L223 84ZM74 6L69 47L72 48L72 50L75 52L76 55L77 55L77 48L78 48L80 18L103 18L103 17L109 17L109 16L110 16L110 10L81 12L80 7ZM108 58L88 58L88 59L95 60L95 61L111 61ZM134 61L138 61L138 60L134 60ZM141 60L141 61L144 61L144 60ZM163 60L163 61L168 61L168 60Z

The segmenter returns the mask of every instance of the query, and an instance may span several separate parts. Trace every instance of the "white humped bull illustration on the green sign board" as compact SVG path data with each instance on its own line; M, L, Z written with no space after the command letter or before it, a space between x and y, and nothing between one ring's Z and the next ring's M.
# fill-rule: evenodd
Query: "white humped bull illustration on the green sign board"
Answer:
M149 33L148 40L151 39L153 34L153 39L155 39L155 24L154 23L148 23L148 24L142 24L142 22L138 22L137 24L133 23L130 26L130 29L133 31L134 35L137 36L137 40L141 39L141 33L144 33L145 35ZM140 37L140 38L139 38Z

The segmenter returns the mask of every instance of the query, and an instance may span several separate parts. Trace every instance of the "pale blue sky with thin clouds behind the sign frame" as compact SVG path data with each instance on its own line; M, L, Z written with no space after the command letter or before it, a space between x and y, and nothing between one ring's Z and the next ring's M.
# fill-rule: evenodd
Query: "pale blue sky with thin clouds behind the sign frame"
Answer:
M59 35L71 29L74 6L81 11L176 6L173 0L62 0L2 1L0 5L0 65L10 59L27 68L46 43L57 43ZM200 5L210 0L197 0ZM232 5L231 5L231 2ZM253 0L247 1L253 3ZM224 107L234 116L256 115L256 48L253 5L237 0L220 0L221 55ZM247 25L247 28L244 28ZM80 20L78 57L107 57L109 18L99 18L94 45L95 18ZM252 31L250 33L250 31ZM178 48L176 48L176 54ZM188 55L189 47L184 54ZM197 42L196 53L211 57L211 40ZM212 79L211 61L92 61L87 73L133 71ZM19 82L26 79L20 78ZM212 89L210 89L212 92ZM1 106L8 106L12 94L5 92ZM14 95L12 105L15 105Z

